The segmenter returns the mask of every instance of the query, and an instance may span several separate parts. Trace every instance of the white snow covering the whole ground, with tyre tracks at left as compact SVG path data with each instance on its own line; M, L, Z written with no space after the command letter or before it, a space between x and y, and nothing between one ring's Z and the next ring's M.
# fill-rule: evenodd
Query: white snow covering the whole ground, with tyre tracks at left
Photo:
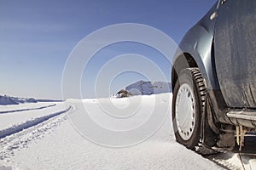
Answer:
M0 114L0 133L9 134L0 137L0 169L214 170L242 169L241 161L255 169L253 135L246 137L241 153L203 157L177 144L171 103L172 94L165 93L1 106L8 112Z

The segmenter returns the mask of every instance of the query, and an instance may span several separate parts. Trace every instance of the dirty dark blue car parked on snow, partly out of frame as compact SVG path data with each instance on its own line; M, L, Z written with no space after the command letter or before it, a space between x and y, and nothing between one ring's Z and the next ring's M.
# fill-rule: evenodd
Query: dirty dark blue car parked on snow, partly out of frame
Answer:
M242 149L256 128L256 1L218 0L172 62L172 126L201 154Z

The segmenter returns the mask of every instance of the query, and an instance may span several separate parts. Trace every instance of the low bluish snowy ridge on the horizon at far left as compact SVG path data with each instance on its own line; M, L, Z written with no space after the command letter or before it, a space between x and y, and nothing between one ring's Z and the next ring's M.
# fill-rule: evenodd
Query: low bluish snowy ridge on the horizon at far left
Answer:
M0 95L0 105L19 105L24 103L37 103L33 98L15 98L7 95Z

